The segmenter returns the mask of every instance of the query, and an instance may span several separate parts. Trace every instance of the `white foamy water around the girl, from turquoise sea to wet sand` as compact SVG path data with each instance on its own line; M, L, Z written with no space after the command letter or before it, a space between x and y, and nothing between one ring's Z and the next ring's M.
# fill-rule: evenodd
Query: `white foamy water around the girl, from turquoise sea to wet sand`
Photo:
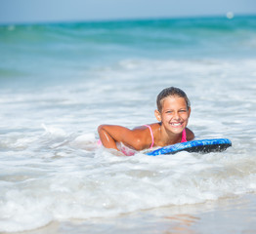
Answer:
M149 215L255 194L256 59L250 55L113 56L84 70L72 67L68 78L66 67L51 75L41 70L31 83L14 74L13 82L6 81L2 73L0 231ZM169 86L191 98L189 127L196 138L228 137L233 147L203 155L124 157L97 145L100 124L133 128L155 122L155 98Z

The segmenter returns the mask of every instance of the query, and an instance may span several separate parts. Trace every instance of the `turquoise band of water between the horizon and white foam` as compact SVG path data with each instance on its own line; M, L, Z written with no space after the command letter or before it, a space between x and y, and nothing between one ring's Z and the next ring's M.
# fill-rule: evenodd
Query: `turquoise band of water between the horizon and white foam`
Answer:
M255 58L255 28L255 17L2 25L0 77L45 84L124 59Z

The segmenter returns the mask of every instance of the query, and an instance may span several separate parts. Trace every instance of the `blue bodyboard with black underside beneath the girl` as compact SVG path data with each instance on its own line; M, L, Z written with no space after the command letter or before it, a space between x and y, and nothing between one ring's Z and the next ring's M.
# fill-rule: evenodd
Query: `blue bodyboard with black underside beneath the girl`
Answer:
M230 146L232 146L232 141L228 138L197 139L167 145L150 151L147 154L150 156L157 156L160 154L175 154L180 151L196 153L222 152Z

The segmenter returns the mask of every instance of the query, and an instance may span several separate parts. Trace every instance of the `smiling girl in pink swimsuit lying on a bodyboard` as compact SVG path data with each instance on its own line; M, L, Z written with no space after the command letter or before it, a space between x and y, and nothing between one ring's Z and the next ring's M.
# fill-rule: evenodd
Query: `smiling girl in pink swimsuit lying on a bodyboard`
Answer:
M185 92L174 87L164 89L157 96L156 104L154 115L158 123L133 130L116 125L101 125L98 132L102 144L125 155L133 155L135 150L193 139L192 131L186 128L191 115L191 103Z

